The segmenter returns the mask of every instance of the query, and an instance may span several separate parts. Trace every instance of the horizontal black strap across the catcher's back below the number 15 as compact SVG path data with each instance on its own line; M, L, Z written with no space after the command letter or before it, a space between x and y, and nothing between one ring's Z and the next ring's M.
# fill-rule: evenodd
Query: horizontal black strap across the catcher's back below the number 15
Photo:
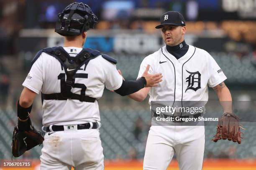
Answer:
M63 97L61 93L52 93L52 94L44 94L42 93L42 98L44 100L67 100L66 97ZM80 100L81 102L95 102L96 98L89 96L82 96L78 94L72 94L70 99Z

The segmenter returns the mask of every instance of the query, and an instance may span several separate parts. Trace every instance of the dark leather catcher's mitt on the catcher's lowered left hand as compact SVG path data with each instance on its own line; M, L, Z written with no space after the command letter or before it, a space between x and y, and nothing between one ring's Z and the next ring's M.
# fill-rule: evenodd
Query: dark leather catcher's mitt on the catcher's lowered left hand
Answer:
M29 130L18 130L18 124L13 131L12 152L14 157L19 157L26 150L30 150L36 145L42 144L44 137L41 132L37 131L32 125Z

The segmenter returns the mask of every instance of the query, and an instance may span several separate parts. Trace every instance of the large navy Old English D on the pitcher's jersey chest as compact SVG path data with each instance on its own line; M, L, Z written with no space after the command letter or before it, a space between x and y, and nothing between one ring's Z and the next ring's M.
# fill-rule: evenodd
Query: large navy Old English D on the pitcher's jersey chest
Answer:
M186 78L186 82L188 82L187 85L187 89L185 92L187 92L187 90L191 89L191 90L195 90L197 91L198 89L201 88L201 74L199 71L197 72L189 72L188 70L186 70L190 75Z

